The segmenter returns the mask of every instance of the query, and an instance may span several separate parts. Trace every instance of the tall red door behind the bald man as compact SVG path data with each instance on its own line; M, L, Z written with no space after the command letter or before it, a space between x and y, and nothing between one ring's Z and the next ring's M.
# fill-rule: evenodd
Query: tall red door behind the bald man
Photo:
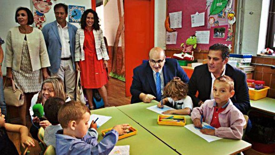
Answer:
M148 59L154 47L154 0L125 0L125 86L131 96L133 69Z

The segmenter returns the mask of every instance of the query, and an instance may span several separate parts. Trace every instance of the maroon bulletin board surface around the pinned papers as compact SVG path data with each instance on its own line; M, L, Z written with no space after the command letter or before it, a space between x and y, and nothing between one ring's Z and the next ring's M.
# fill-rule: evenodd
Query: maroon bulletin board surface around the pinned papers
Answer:
M211 27L208 28L208 13L206 9L206 0L167 0L167 15L169 13L174 13L174 12L179 12L182 11L182 28L176 28L177 31L177 41L176 44L167 44L166 49L182 49L180 47L181 43L185 43L186 39L189 38L192 35L195 35L196 31L205 31L209 30L210 31L210 39L209 39L209 44L197 44L197 48L201 50L208 50L209 47L213 44L216 43L221 43L221 44L231 44L232 46L232 52L234 52L233 46L234 46L234 34L235 34L235 25L236 23L233 24L233 38L232 41L226 41L226 40L220 40L220 39L213 39L213 34L211 34ZM233 0L232 3L232 11L235 11L235 17L236 17L236 7L237 5L236 1ZM211 5L208 7L210 8ZM204 26L199 26L199 27L191 27L191 15L195 14L196 12L198 13L205 13L205 24ZM226 17L227 18L227 14ZM237 18L237 17L236 17ZM221 22L222 23L222 22ZM214 26L214 25L213 25ZM228 25L227 25L228 26ZM213 27L212 27L213 28Z

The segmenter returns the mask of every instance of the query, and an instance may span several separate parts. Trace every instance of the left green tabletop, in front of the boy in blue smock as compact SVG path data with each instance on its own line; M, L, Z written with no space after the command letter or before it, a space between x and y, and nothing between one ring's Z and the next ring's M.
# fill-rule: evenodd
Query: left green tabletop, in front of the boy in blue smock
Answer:
M135 129L137 129L138 132L136 135L119 140L117 146L130 145L131 155L178 154L177 152L173 151L172 148L168 147L158 138L153 136L150 132L146 131L143 127L138 125L138 123L136 123L131 118L126 116L123 112L118 110L116 107L93 110L91 111L91 114L112 116L112 118L109 121L107 121L105 124L98 128L98 141L100 141L103 138L101 134L102 130L108 129L118 124L128 123Z

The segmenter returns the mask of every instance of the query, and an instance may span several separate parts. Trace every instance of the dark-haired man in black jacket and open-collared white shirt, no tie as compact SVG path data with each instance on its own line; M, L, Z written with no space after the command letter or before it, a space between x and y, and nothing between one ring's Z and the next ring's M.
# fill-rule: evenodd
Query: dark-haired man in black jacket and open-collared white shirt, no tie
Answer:
M192 98L193 105L201 106L205 100L214 99L212 94L213 81L221 76L230 76L234 81L235 94L231 99L243 114L250 108L246 74L236 67L227 64L229 49L223 44L214 44L209 47L207 64L195 67L189 81L188 95ZM195 96L199 92L198 97Z

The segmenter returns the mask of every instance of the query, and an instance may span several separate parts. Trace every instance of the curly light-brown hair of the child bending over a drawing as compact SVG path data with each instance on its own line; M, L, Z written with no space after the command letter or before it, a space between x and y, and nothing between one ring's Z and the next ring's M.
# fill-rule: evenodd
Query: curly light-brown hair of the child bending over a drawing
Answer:
M184 83L179 77L174 77L168 82L163 90L163 95L166 97L177 97L183 99L187 96L188 84Z

